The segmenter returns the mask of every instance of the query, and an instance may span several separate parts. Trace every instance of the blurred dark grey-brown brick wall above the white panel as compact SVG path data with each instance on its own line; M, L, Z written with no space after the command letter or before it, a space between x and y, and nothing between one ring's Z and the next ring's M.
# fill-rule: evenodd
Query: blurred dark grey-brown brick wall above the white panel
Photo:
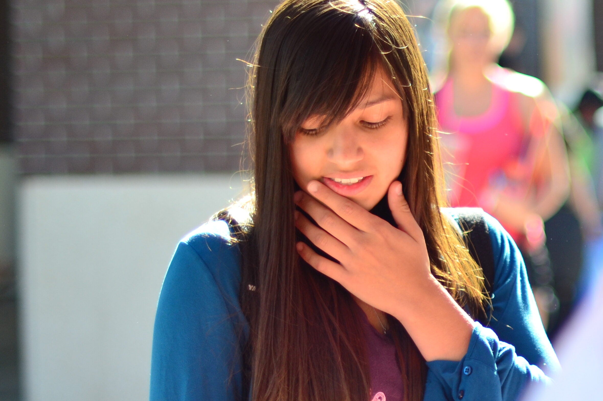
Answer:
M236 58L251 57L277 3L14 1L21 172L237 170L246 67Z

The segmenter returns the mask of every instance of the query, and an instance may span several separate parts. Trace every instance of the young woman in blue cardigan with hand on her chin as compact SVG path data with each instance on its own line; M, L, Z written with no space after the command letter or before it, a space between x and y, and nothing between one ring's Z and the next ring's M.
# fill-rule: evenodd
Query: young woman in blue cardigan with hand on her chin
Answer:
M547 381L558 362L516 245L484 214L487 296L444 208L399 5L286 0L250 65L254 191L175 250L151 400L511 400Z

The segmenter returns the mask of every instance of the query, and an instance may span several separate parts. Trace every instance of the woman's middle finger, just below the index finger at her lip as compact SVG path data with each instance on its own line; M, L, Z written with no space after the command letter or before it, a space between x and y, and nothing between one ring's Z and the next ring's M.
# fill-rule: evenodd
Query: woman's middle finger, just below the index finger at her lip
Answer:
M359 231L356 227L350 225L314 197L309 196L304 191L300 191L300 193L301 196L295 203L308 213L320 228L337 238L341 243L346 244L346 246L353 246L357 243Z

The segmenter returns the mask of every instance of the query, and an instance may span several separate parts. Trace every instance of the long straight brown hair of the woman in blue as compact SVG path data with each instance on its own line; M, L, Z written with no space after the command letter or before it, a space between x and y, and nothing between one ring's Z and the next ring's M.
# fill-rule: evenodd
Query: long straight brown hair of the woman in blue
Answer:
M310 115L343 119L367 93L378 66L391 74L408 122L399 179L423 229L432 273L460 305L484 300L481 272L440 207L443 196L434 105L411 24L395 1L285 0L274 10L249 62L252 193L216 214L233 227L242 255L241 307L250 324L245 377L254 401L370 399L358 309L343 286L295 251L288 145ZM386 195L387 197L387 195ZM241 219L241 210L248 218ZM389 222L387 199L371 213ZM245 221L244 221L245 220ZM388 316L406 401L425 387L425 359Z

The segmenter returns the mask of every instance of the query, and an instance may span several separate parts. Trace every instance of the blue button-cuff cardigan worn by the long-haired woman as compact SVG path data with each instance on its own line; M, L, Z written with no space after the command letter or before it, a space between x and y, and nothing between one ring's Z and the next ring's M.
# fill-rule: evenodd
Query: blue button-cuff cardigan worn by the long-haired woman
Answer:
M452 208L443 209L458 219ZM516 400L528 382L548 382L559 362L540 321L513 239L485 214L494 250L493 317L476 323L461 361L428 362L425 400ZM239 401L242 347L241 253L223 221L202 225L175 249L157 305L151 401ZM234 370L232 370L234 368ZM233 373L230 378L231 370ZM229 381L230 378L230 381Z

